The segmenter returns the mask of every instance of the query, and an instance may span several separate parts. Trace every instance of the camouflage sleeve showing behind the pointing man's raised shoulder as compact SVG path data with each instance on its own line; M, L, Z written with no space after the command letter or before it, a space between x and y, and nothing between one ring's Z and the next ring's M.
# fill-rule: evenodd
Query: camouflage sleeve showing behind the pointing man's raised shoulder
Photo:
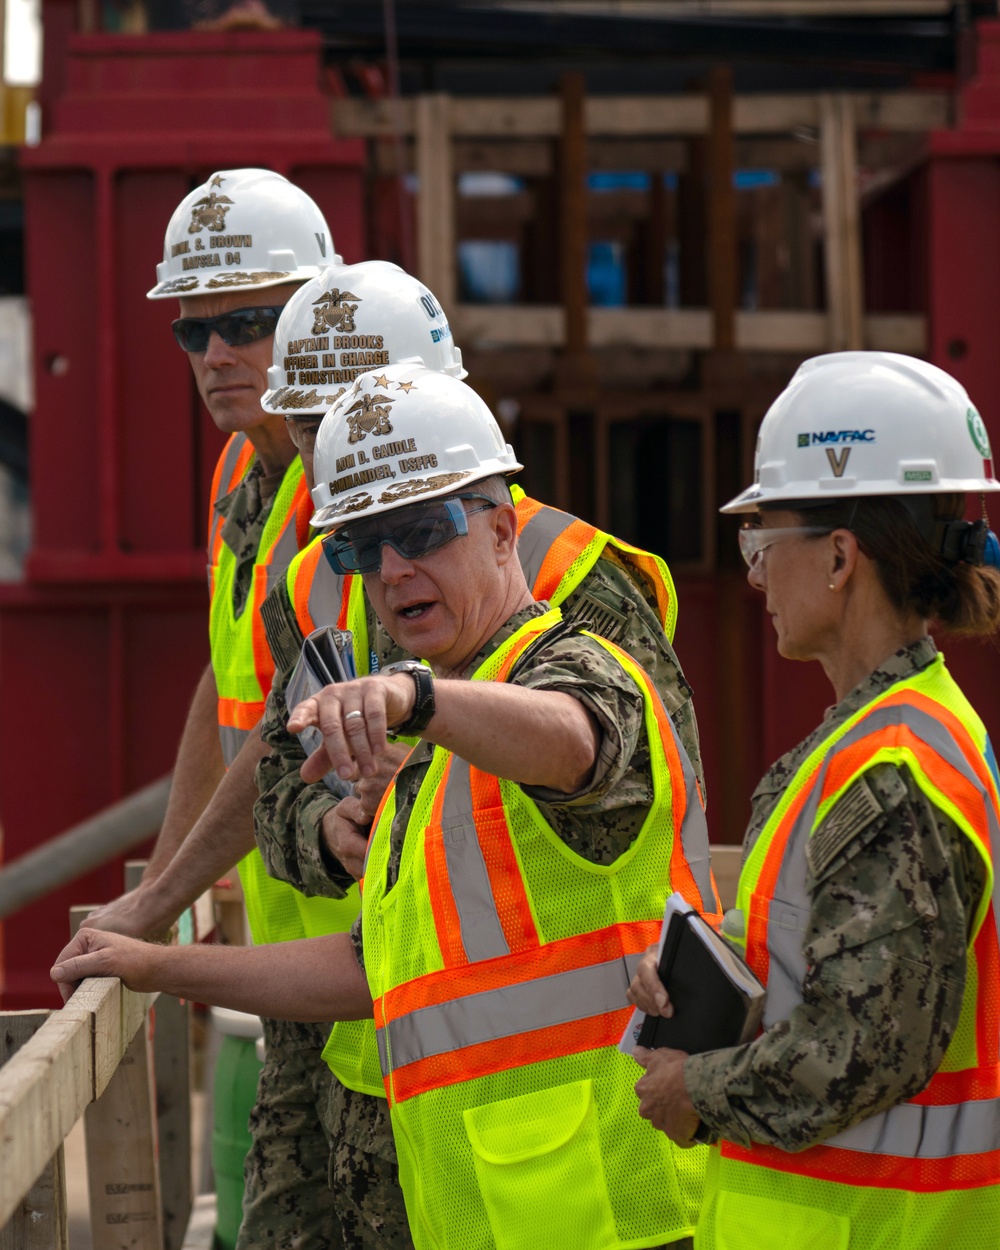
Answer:
M650 675L694 766L704 798L705 774L691 688L660 624L656 594L642 574L625 564L612 548L605 548L604 555L561 608L564 618L616 642Z

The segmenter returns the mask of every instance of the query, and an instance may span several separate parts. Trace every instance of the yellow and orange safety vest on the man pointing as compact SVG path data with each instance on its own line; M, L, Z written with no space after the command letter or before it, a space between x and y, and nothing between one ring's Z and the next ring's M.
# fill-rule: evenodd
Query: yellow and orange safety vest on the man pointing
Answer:
M560 619L521 626L472 680L505 680ZM694 1228L706 1151L636 1115L618 1042L666 896L718 911L708 830L651 682L598 641L645 700L654 799L625 854L584 860L520 786L440 746L391 889L394 792L369 846L365 971L418 1250L624 1250Z

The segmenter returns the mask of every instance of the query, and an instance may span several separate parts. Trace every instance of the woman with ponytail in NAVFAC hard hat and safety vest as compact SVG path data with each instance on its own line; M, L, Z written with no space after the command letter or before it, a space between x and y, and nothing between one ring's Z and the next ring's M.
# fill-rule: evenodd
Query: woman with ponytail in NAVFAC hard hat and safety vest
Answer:
M768 988L751 1042L639 1051L640 1115L716 1140L698 1250L981 1250L1000 1239L1000 959L986 730L928 622L1000 624L1000 490L962 388L842 352L768 412L740 545L781 655L835 705L752 799L724 931ZM630 998L672 1006L646 956Z

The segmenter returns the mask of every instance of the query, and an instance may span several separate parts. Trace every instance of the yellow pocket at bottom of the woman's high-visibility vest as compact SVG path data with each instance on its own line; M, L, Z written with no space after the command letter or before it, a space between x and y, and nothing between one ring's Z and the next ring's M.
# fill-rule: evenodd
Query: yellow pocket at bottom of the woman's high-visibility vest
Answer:
M850 1220L816 1206L722 1190L715 1205L715 1250L848 1250Z

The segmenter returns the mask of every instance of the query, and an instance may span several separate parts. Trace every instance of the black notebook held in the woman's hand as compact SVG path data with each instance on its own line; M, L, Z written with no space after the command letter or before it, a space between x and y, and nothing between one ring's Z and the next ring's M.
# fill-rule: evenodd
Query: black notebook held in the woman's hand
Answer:
M764 986L732 945L679 894L666 902L659 969L674 1015L636 1011L622 1050L630 1035L632 1045L670 1046L689 1055L739 1046L756 1036Z

